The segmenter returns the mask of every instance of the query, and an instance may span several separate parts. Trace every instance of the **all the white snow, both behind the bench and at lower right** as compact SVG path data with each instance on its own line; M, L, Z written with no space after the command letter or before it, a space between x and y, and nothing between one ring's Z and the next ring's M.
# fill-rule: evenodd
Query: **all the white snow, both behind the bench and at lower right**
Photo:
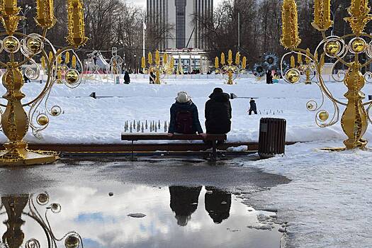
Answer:
M327 85L334 96L344 98L343 84L330 82ZM23 91L30 98L42 86L27 84ZM315 113L307 111L308 100L321 100L316 85L283 82L267 85L255 79L241 79L232 86L219 79L169 79L162 85L150 85L145 79L135 79L130 85L91 81L74 90L56 85L50 106L60 105L64 114L51 118L50 127L41 140L30 134L26 139L41 143L121 143L125 120L168 120L169 107L178 91L188 91L192 96L203 123L204 103L216 86L237 96L258 97L261 115L247 114L248 99L232 100L230 142L257 141L259 118L262 117L286 118L287 141L305 142L288 146L285 157L257 162L242 160L242 166L259 167L292 180L290 184L247 196L249 203L276 208L278 218L290 222L290 247L372 247L371 152L317 149L342 146L346 137L339 123L331 128L318 128ZM90 98L93 91L97 96L116 97ZM367 84L363 92L372 95L372 85ZM329 101L325 109L332 113ZM365 137L372 140L371 128ZM0 141L5 140L2 135Z

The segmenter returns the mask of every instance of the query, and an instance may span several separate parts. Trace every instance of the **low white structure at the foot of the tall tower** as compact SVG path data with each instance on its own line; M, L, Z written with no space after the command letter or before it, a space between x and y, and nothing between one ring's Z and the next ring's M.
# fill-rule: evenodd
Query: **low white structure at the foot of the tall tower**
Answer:
M207 73L209 71L210 62L207 53L204 50L185 48L167 49L165 52L174 57L175 71L179 62L181 62L184 72L193 72L194 70L198 70L201 73Z

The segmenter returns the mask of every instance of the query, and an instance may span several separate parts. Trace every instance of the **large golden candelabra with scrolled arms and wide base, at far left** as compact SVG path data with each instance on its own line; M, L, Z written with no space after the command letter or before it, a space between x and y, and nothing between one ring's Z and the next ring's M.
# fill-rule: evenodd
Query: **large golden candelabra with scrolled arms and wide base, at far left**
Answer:
M25 35L17 31L18 22L21 16L18 13L21 8L17 6L16 0L0 1L1 22L5 32L0 33L1 52L3 50L9 55L9 60L0 62L1 67L6 68L3 74L3 85L6 88L6 94L3 96L7 104L1 104L6 108L4 113L1 111L1 128L8 137L9 141L4 144L5 151L0 152L0 164L18 165L18 164L46 164L55 162L56 154L50 152L33 152L27 149L28 144L23 140L28 129L33 130L33 134L38 136L41 130L45 130L49 124L50 116L60 115L60 106L47 107L47 99L50 95L50 89L56 80L64 81L69 87L76 87L80 84L81 76L74 66L69 67L66 63L67 52L72 52L76 60L74 48L84 45L87 38L84 35L84 13L81 0L67 0L68 14L68 36L69 46L57 51L52 43L46 38L47 30L52 28L56 19L54 16L53 0L36 0L37 16L35 22L42 28L41 35L31 33ZM50 51L49 54L47 51ZM21 52L21 54L19 53ZM24 59L23 59L23 56ZM29 79L35 80L40 76L40 67L35 62L36 55L43 56L42 64L47 68L47 81L43 90L28 102L21 101L26 95L21 92L24 84L23 72ZM62 64L61 58L64 56L65 64ZM69 55L68 55L69 56ZM78 60L79 64L81 62ZM28 64L30 63L30 64ZM74 64L74 63L72 63ZM76 65L76 61L75 61ZM34 66L32 69L30 66ZM45 113L36 113L41 103L45 103ZM26 113L24 107L28 107Z

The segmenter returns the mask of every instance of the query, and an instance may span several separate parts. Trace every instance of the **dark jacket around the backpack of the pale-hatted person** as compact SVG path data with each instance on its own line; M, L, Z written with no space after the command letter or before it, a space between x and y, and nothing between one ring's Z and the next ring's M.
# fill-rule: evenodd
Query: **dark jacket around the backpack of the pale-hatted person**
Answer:
M193 115L193 132L203 133L199 121L198 107L192 101L188 101L187 103L173 103L171 106L171 122L169 123L168 133L181 133L181 131L176 130L176 115L179 111L190 111Z

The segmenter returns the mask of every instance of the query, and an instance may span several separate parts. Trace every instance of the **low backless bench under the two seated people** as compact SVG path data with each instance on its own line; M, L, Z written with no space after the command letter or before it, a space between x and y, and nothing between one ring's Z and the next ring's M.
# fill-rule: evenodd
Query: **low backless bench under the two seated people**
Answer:
M201 135L173 135L168 136L167 133L122 133L121 140L132 142L132 161L134 160L134 142L138 140L205 140L212 142L212 156L217 158L217 142L227 140L227 135L208 134L203 137Z

